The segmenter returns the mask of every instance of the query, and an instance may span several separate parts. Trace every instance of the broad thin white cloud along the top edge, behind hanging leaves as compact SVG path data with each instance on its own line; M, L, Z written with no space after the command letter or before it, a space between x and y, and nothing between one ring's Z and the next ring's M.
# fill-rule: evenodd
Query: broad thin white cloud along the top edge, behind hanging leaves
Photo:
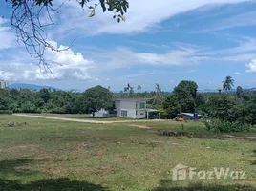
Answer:
M152 28L161 28L158 24L181 12L191 11L205 5L222 5L246 2L249 0L129 0L130 8L126 22L117 24L111 12L96 10L94 18L88 18L89 11L83 11L77 2L67 1L59 15L59 27L53 33L63 36L72 33L96 35L100 33L134 33L145 32ZM67 33L69 31L69 33Z

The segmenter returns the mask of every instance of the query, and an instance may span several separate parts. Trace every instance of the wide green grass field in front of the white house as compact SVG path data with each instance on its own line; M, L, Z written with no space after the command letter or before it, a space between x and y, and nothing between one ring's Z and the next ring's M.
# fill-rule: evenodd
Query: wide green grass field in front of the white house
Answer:
M18 124L9 127L10 121ZM163 137L158 130L205 137ZM218 136L198 122L181 130L174 121L87 124L2 115L0 190L255 191L256 141ZM172 181L178 163L197 170L229 167L246 171L246 179Z

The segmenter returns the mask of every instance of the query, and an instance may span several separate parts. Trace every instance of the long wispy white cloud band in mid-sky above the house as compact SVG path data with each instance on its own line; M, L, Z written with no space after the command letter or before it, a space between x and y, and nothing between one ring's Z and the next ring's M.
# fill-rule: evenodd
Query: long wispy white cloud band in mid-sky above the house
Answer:
M185 45L183 45L185 46ZM110 51L101 51L97 53L96 59L99 63L100 70L113 70L117 68L128 68L134 65L151 65L151 66L174 66L174 65L191 65L198 64L208 57L201 53L201 50L192 49L188 46L186 49L173 48L166 50L167 53L151 52L134 52L127 48L118 48Z

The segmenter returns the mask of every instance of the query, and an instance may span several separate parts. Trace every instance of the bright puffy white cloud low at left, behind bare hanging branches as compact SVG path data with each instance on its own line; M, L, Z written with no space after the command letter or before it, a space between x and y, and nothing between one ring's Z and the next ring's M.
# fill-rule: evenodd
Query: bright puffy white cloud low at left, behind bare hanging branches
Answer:
M52 42L56 47L57 44ZM66 47L60 45L60 50ZM17 55L20 56L20 55ZM44 66L37 66L35 63L5 62L0 61L0 78L6 80L36 80L36 79L76 79L76 80L97 80L92 76L91 70L96 67L96 63L87 60L81 53L68 51L53 53L47 50L45 57L50 63L50 70Z

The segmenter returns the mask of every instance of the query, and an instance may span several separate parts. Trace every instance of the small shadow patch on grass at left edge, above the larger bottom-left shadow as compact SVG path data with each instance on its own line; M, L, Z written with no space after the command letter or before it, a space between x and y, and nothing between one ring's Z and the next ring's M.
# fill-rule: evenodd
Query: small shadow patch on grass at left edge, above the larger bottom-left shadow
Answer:
M33 162L32 159L12 159L0 161L0 174L32 175L36 171L29 170L28 164Z

